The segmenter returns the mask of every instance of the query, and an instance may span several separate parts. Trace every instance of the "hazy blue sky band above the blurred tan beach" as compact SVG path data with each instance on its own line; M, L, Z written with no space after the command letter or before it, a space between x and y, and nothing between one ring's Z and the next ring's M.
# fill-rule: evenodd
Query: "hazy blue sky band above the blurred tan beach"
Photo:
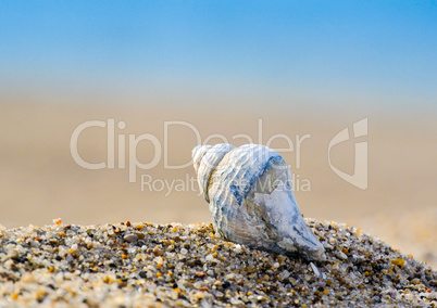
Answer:
M435 1L1 1L0 88L437 105Z

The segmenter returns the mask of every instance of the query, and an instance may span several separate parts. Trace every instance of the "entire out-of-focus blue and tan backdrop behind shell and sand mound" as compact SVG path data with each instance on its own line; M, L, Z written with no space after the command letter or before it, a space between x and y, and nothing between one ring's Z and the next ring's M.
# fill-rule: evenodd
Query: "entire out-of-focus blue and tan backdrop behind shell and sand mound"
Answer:
M305 217L362 228L437 268L436 21L433 1L2 1L0 224L210 222L188 164L195 131L235 145L283 134L295 151L270 145ZM369 134L330 155L353 174L354 144L367 142L365 190L328 163L329 141L363 118ZM109 119L113 152L109 125L84 130L77 149L107 167L115 153L114 168L80 167L73 131ZM129 182L129 134L145 133L161 153L147 140L134 152L159 162Z

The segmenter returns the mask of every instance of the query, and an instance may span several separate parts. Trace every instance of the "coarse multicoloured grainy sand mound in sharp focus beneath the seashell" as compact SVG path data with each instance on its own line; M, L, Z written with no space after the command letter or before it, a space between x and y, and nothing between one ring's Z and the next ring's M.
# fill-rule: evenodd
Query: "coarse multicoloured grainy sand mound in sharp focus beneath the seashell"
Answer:
M0 306L437 306L437 272L361 230L307 220L310 262L229 243L207 224L0 230Z

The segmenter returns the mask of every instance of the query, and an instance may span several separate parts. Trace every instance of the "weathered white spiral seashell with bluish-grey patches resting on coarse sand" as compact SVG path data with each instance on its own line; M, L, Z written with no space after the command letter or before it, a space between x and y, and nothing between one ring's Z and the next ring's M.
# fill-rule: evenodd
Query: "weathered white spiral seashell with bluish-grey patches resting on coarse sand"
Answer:
M277 254L325 258L299 210L291 171L276 151L258 144L198 145L192 161L222 238Z

